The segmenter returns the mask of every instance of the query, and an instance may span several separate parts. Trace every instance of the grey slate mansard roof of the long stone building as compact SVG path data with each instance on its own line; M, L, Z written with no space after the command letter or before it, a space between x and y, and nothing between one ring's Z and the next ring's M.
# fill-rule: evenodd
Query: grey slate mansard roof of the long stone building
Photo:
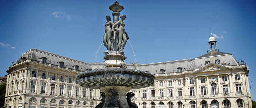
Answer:
M83 68L83 71L86 69L103 69L103 63L87 63L79 60L75 60L72 58L64 57L61 55L53 54L50 52L38 50L38 49L30 49L24 54L22 57L27 57L27 55L31 55L32 60L40 61L40 58L46 57L47 63L51 60L51 64L58 65L57 62L64 62L64 67L68 64L68 68L73 69L72 66L78 65L79 70ZM24 58L24 59L25 59ZM209 63L214 63L216 60L219 60L218 65L237 65L237 60L233 57L230 53L223 53L223 52L214 52L214 53L207 53L195 59L184 59L184 60L174 60L174 61L166 61L166 62L158 62L158 63L150 63L150 64L136 64L137 70L141 71L148 71L152 74L159 74L160 70L165 70L165 73L174 73L178 72L178 68L182 68L182 71L188 70L195 70L201 69L206 66L204 63L205 61L209 61ZM21 61L21 58L20 60ZM127 69L134 69L134 65L127 64Z

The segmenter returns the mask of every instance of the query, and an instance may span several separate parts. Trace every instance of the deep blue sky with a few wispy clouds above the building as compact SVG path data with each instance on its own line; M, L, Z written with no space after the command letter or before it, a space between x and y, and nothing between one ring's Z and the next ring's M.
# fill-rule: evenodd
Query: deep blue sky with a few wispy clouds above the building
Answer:
M115 0L0 0L0 76L31 48L84 62L104 62L108 6ZM119 0L137 63L196 58L209 49L210 23L220 52L250 67L256 97L256 1ZM113 20L113 17L112 17ZM97 49L99 53L96 57ZM126 63L135 62L125 46ZM255 98L254 98L255 99Z

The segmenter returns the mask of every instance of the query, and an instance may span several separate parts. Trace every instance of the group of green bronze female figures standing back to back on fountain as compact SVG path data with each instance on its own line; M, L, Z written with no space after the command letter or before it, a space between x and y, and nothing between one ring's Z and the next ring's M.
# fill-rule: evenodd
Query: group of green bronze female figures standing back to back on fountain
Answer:
M125 15L120 16L120 20L116 23L111 21L109 15L106 16L107 22L105 23L105 33L103 35L103 43L107 51L121 51L123 52L124 46L129 39L128 34L124 30Z

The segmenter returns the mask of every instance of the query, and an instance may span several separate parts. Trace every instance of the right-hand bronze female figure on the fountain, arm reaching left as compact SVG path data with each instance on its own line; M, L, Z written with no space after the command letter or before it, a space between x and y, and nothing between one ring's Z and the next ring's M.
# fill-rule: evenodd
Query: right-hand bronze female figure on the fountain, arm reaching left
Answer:
M127 38L128 34L124 30L125 24L123 23L123 21L125 20L126 16L125 15L121 15L120 18L121 19L117 23L115 23L113 25L112 29L117 27L117 25L119 26L118 27L118 29L119 29L119 33L118 33L118 48L119 48L119 51L123 51L124 46L125 46L125 44L127 42L127 39L128 39Z

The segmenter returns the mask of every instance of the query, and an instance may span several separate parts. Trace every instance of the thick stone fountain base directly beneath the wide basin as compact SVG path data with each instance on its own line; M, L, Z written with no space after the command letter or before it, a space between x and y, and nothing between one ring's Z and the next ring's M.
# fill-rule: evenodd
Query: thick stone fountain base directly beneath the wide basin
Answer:
M126 93L130 91L132 87L126 86L105 86L101 90L105 93L105 101L102 108L130 108L127 103Z

